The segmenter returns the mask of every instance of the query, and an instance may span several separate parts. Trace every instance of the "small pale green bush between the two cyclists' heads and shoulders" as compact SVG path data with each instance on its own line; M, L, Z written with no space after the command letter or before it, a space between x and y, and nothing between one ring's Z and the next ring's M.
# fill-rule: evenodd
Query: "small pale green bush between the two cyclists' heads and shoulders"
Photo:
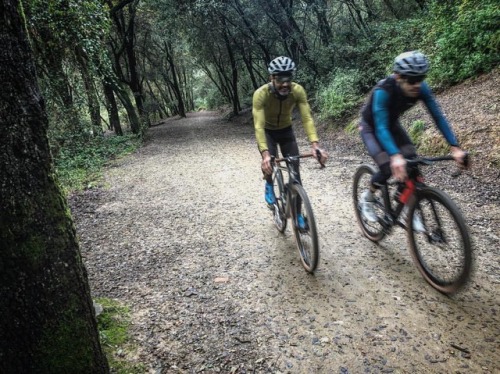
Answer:
M337 70L328 85L317 92L317 105L323 118L339 119L361 102L361 73L355 69Z

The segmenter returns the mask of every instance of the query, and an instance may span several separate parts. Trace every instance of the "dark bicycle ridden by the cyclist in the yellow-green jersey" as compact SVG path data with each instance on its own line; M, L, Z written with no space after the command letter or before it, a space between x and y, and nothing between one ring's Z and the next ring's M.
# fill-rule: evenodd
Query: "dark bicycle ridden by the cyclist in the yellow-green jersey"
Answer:
M299 159L305 157L317 156L309 153L273 158L273 184L276 203L271 206L271 209L274 224L282 233L286 230L288 218L291 218L302 265L307 272L313 273L319 262L318 232L311 202L298 180ZM286 180L283 176L284 173L288 175Z

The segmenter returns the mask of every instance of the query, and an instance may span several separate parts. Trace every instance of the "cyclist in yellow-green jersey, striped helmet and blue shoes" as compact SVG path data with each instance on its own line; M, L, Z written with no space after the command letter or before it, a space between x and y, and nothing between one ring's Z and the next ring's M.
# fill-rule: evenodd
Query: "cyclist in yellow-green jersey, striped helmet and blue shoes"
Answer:
M276 198L271 179L271 156L278 156L278 145L284 157L299 154L292 129L292 111L295 107L299 109L313 154L316 155L316 150L320 151L318 161L322 164L326 162L328 154L319 146L306 91L300 84L292 81L295 63L289 57L280 56L270 62L268 72L270 82L259 87L253 94L252 114L257 146L262 156L261 168L266 177L265 200L272 205Z

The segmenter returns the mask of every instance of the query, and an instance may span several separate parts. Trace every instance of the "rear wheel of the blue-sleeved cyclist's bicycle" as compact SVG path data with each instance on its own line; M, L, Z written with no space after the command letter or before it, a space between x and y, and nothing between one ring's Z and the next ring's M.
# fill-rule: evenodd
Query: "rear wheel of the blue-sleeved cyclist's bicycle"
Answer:
M375 173L376 169L371 165L361 165L360 167L358 167L356 173L354 174L352 183L352 199L354 202L354 212L356 215L356 220L358 221L361 232L372 242L379 242L386 235L384 227L379 222L369 222L368 220L366 220L361 213L360 205L361 194L370 188L371 178ZM379 217L383 217L386 212L386 207L383 199L385 188L387 187L383 186L381 189L377 190L374 193L375 212Z

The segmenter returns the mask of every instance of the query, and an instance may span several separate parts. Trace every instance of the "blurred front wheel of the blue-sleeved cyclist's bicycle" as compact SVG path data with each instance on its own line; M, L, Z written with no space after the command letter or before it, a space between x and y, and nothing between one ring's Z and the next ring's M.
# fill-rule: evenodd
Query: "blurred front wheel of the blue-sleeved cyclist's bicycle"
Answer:
M416 210L425 232L407 230L410 251L424 279L443 294L460 290L472 271L469 230L460 209L441 190L422 187L408 207L408 222Z

